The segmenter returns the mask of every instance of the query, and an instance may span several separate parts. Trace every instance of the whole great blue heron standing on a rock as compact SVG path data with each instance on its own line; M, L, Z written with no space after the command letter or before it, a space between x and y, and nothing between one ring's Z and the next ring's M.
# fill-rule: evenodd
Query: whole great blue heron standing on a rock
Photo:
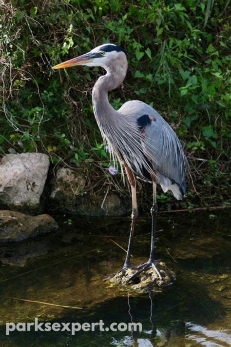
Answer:
M152 241L147 263L134 266L137 271L130 277L133 280L139 273L153 267L161 279L161 274L154 261L155 219L157 212L156 184L163 191L171 190L177 200L186 192L185 170L187 159L183 148L171 126L148 104L132 100L125 102L117 111L108 101L108 92L117 88L124 80L128 62L126 52L116 44L102 44L89 53L62 62L54 69L69 66L101 66L106 75L99 77L92 93L93 108L104 142L109 146L121 165L124 166L132 190L132 225L128 250L121 270L130 265L130 254L138 217L136 200L136 178L153 184ZM123 171L122 171L123 172Z

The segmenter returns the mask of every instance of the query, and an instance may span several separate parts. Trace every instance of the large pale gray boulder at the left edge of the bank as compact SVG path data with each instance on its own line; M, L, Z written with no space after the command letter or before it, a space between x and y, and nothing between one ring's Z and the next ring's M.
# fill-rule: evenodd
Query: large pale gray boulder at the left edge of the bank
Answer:
M49 168L42 153L8 154L0 161L0 208L37 214Z

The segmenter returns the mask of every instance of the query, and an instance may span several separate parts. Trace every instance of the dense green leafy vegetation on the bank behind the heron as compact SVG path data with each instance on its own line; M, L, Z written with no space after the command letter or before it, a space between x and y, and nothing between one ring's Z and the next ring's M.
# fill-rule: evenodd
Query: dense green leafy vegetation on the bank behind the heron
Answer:
M140 63L129 58L124 85L110 94L111 103L117 108L139 99L154 106L173 126L191 165L188 199L176 203L161 194L162 207L224 204L231 137L228 5L3 0L0 152L45 152L54 164L82 170L88 190L111 184L125 192L120 175L106 170L109 155L93 115L91 90L103 71L51 69L96 45L117 43Z

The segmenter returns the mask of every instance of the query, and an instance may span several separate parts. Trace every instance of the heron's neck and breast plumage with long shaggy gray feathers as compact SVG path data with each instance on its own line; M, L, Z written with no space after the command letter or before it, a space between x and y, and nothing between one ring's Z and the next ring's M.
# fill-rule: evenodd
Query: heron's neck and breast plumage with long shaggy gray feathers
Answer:
M136 172L141 173L142 167L153 172L143 154L135 117L121 114L108 101L108 91L117 88L126 76L125 54L108 64L106 69L107 74L97 80L92 93L94 113L104 143L109 145L114 161L118 160L120 164L125 161Z

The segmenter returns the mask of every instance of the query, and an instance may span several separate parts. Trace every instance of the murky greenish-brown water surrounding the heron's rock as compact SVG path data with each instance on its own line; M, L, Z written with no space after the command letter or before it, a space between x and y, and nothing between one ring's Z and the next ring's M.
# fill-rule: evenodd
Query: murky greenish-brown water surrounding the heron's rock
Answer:
M231 346L229 213L159 214L156 258L177 274L155 294L129 294L102 282L123 264L129 218L58 217L60 230L0 246L1 346ZM133 263L147 259L149 218L137 226ZM105 236L106 235L106 236ZM110 240L111 239L111 240ZM32 271L31 271L32 270ZM30 271L28 273L25 273ZM22 274L21 276L18 276ZM18 276L10 279L11 277ZM9 298L11 297L11 298ZM16 298L82 309L23 302ZM142 331L12 332L6 322L141 322Z

